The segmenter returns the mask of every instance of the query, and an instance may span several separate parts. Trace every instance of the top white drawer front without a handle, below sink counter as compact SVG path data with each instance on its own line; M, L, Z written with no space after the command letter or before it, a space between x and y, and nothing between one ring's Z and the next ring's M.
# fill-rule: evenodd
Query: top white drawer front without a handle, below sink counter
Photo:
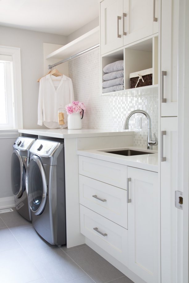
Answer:
M104 183L127 189L127 166L79 156L79 173Z

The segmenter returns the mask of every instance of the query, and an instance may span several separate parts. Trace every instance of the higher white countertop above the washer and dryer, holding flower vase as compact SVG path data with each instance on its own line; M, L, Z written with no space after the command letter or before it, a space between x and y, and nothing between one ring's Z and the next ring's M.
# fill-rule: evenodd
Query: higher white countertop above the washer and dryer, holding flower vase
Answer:
M18 133L39 135L52 138L87 138L87 137L105 137L105 136L124 136L134 132L128 130L107 131L95 129L18 129Z

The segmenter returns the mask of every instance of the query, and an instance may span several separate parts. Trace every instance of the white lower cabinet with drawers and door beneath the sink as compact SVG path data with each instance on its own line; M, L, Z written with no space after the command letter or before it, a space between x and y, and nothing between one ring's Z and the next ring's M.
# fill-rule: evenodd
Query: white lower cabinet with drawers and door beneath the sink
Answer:
M80 160L83 157L80 158ZM84 162L101 165L101 160L85 157ZM112 163L105 162L105 172ZM80 163L80 166L83 162ZM109 165L108 165L109 164ZM116 164L113 163L115 166ZM83 166L83 165L82 165ZM102 182L101 174L89 177L80 168L80 231L101 249L128 267L146 283L158 283L160 256L160 196L158 173L123 166L125 189ZM81 174L86 172L85 174ZM91 171L92 172L92 171ZM96 172L96 171L95 171ZM120 172L120 168L118 170ZM85 176L84 176L85 175ZM119 175L119 174L118 174ZM117 177L118 177L117 175ZM97 180L94 177L97 177ZM108 177L107 177L108 180ZM123 182L123 180L122 180ZM120 179L117 179L120 183Z

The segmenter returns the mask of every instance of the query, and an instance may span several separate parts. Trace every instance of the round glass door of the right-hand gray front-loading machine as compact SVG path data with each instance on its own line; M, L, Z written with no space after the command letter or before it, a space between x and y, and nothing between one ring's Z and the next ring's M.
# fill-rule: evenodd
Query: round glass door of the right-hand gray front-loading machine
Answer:
M33 155L26 171L26 189L31 211L43 212L47 202L47 178L40 158Z

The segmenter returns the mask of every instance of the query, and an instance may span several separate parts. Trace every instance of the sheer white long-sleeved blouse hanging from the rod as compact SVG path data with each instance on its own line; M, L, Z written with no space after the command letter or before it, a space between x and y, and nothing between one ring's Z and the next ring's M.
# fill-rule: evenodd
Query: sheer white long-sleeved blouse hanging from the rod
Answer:
M56 79L59 77L55 77ZM38 125L43 124L48 128L59 128L58 111L60 106L65 107L74 101L73 85L71 78L62 76L59 84L53 84L51 75L41 78L39 85L39 101L38 101ZM65 122L67 122L67 114L65 111ZM65 124L65 127L67 123Z

